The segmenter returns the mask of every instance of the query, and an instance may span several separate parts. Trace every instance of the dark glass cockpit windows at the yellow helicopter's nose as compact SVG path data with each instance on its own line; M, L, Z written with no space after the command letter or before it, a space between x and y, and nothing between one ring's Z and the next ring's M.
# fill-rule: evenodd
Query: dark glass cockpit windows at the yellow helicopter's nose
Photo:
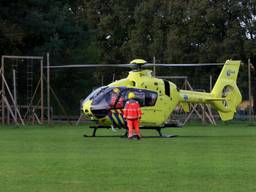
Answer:
M136 100L141 107L154 106L157 100L157 92L128 88L128 87L100 87L92 92L85 100L92 100L90 110L97 118L105 117L111 109L123 109L128 100L128 93L134 92Z

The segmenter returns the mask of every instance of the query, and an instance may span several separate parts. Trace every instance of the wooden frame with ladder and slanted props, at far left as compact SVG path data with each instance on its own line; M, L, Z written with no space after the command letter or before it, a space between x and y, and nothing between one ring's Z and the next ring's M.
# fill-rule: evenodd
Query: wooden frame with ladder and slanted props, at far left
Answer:
M32 68L33 66L27 66L29 67L27 71L27 73L30 75L29 77L27 77L27 89L29 88L30 90L27 90L27 96L30 98L30 103L28 104L28 106L18 106L17 104L17 93L16 93L16 71L13 70L13 93L10 91L9 85L5 79L5 60L9 59L9 60L31 60L31 65L32 65L32 61L33 60L39 60L39 64L40 64L40 79L38 81L38 85L37 88L32 96L32 85L28 85L28 83L32 84ZM17 65L17 62L16 62ZM14 55L3 55L1 57L1 80L2 80L2 89L1 89L1 115L2 115L2 124L5 123L9 123L9 114L11 114L14 122L16 124L19 124L19 122L21 122L24 125L24 120L22 119L22 116L20 114L20 109L19 108L26 108L28 111L31 109L32 112L32 119L36 119L37 122L39 124L43 123L44 121L44 80L43 80L43 57L42 56L14 56ZM38 90L38 88L41 88L40 91L40 98L39 98L39 102L40 103L40 107L38 106L33 106L33 99L35 97L35 94ZM6 90L7 90L7 94L6 94ZM28 95L30 94L30 96ZM11 102L8 101L8 98L10 98ZM12 110L12 108L14 109L14 112ZM38 109L41 111L41 117L40 120L37 116L37 114L35 113L35 109ZM7 111L7 113L6 113ZM26 115L28 113L28 111L26 112ZM17 114L18 114L18 118L17 118ZM25 115L25 116L26 116Z

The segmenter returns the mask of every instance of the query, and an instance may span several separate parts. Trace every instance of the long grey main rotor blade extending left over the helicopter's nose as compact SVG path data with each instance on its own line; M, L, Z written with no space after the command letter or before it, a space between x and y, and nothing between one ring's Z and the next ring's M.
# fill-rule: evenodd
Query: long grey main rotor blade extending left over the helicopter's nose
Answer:
M44 68L85 68L85 67L132 67L133 64L75 64L75 65L50 65Z

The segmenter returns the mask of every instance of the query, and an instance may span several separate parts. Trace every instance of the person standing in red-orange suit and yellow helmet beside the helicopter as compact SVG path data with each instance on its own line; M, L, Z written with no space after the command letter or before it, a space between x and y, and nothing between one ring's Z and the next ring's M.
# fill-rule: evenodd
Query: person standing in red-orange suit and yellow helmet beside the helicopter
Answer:
M128 94L128 101L125 104L124 108L124 118L127 121L128 126L128 139L131 139L133 136L133 129L135 129L137 139L140 139L140 128L139 121L141 119L141 109L138 101L135 100L135 94L130 92Z

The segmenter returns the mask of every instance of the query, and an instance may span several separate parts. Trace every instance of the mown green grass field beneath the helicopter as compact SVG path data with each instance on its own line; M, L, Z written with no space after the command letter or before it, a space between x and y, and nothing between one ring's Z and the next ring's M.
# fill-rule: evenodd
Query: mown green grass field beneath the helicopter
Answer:
M84 138L85 128L0 127L0 191L256 191L256 126L193 125L140 141L111 130Z

